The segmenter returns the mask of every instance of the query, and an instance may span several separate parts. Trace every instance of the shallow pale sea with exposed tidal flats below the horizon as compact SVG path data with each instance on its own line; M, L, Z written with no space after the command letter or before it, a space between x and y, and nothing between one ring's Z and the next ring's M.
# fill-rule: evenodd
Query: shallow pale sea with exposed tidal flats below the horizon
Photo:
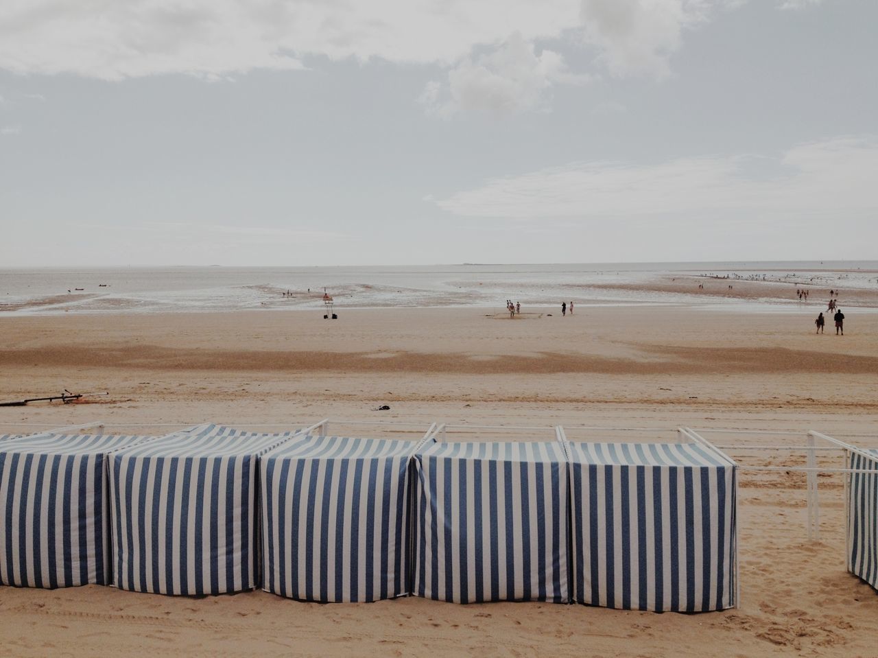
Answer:
M728 280L726 280L728 279ZM682 285L681 285L682 282ZM750 291L703 294L738 283ZM842 288L878 311L878 261L452 264L370 267L0 268L0 317L342 308L680 305L801 309L795 290ZM850 307L850 304L848 304Z

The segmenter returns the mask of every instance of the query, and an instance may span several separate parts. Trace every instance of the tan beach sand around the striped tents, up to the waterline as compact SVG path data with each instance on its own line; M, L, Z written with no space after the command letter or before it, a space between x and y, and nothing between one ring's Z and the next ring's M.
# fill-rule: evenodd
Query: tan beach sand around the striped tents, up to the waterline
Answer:
M818 306L783 315L578 307L572 317L537 309L515 320L474 308L342 309L335 322L309 312L0 316L0 400L110 392L102 404L0 409L0 432L16 429L2 423L97 418L246 427L333 416L423 428L438 420L878 435L878 314L846 309L847 336L834 336L830 322L814 336ZM391 410L373 411L379 404ZM402 436L369 432L389 433ZM808 542L802 477L741 475L738 610L0 588L0 646L76 656L876 655L878 594L846 574L840 476L822 477L820 490L822 540Z

